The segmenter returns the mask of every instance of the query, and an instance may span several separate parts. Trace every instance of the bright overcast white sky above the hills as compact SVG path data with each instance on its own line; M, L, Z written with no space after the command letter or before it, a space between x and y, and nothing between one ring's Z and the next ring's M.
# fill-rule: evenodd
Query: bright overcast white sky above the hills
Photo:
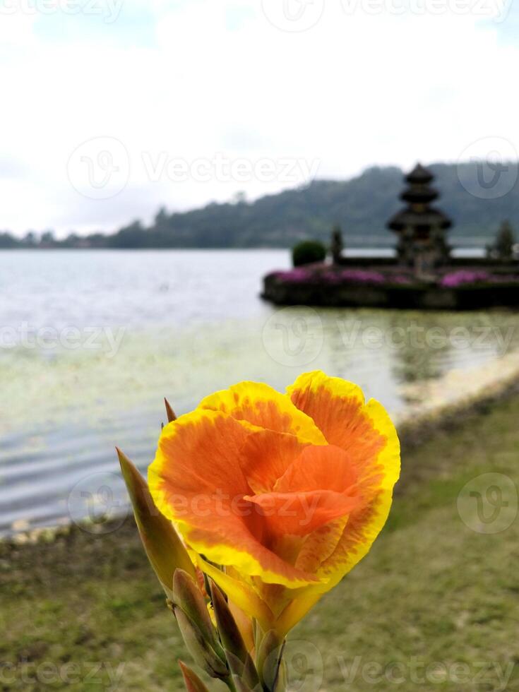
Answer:
M515 156L511 0L0 0L0 229Z

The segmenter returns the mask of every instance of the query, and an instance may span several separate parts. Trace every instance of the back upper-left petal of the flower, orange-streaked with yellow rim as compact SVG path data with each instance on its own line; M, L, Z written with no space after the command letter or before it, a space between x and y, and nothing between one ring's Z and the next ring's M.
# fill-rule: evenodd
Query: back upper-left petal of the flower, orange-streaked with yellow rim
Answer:
M263 383L240 382L206 397L199 408L222 411L261 428L295 435L302 441L326 444L311 418L298 410L290 398Z

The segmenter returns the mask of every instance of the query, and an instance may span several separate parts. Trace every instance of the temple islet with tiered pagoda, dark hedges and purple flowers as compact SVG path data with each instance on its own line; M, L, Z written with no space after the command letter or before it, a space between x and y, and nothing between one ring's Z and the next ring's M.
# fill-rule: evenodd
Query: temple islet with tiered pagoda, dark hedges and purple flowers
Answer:
M388 308L404 310L519 309L519 257L513 232L503 224L496 244L501 254L451 256L451 220L433 203L439 193L433 174L417 165L405 176L402 208L388 221L397 235L396 256L345 253L339 227L333 229L331 262L314 259L292 270L272 271L262 296L275 305ZM468 193L467 193L468 194ZM499 217L495 220L499 222Z

